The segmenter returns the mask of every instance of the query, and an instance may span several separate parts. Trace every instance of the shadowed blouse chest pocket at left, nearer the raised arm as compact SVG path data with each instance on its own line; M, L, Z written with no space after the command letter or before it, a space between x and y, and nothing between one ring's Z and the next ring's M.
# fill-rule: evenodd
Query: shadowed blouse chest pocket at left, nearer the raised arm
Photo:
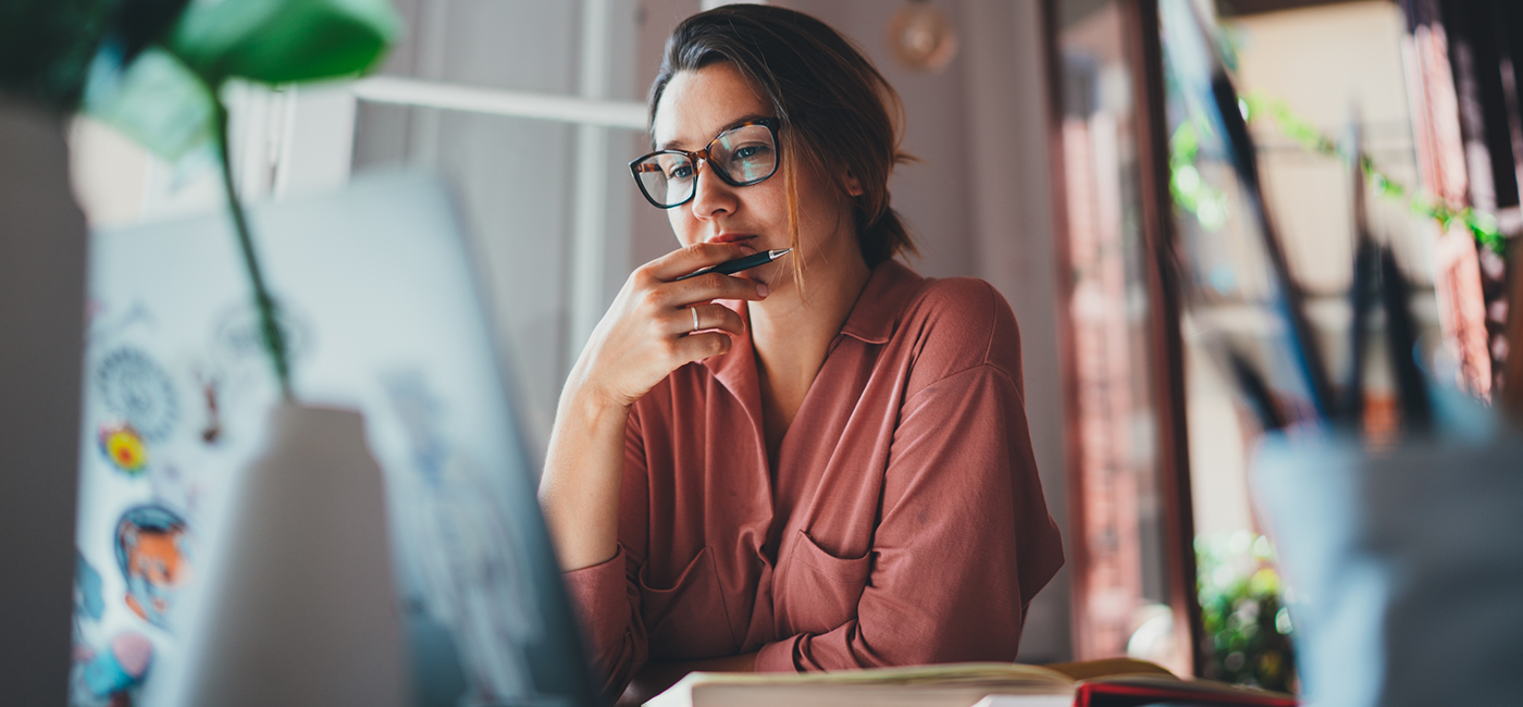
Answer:
M652 587L641 571L640 602L650 660L713 658L740 651L730 629L714 552L708 547L699 550L670 587Z

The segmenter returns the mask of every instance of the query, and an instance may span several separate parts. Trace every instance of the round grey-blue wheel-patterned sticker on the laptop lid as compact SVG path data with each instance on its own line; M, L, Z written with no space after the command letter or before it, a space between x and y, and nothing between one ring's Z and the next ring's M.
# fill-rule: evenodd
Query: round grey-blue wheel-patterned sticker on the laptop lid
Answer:
M148 354L120 347L96 367L94 382L105 407L125 419L145 440L160 442L180 417L169 373Z

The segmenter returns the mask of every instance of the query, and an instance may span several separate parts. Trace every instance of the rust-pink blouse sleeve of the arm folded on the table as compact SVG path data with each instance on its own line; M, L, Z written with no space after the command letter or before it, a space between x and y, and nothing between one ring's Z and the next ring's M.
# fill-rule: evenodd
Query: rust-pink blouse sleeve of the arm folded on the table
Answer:
M900 407L857 617L765 646L757 670L1016 658L1027 605L1063 550L1031 453L1014 317L1004 306L982 325L990 354Z

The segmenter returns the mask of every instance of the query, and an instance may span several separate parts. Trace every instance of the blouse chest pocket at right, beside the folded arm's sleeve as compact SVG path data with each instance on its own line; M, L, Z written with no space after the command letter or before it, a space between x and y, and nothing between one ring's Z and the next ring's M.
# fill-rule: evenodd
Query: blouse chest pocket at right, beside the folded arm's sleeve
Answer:
M775 588L783 635L824 634L856 619L873 564L871 552L860 558L838 558L800 530L786 562L784 584Z

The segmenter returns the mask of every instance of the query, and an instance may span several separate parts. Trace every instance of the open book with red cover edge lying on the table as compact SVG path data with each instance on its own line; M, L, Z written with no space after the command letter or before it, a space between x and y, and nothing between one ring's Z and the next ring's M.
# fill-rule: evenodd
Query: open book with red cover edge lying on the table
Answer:
M646 707L1295 707L1278 692L1209 680L1180 680L1151 663L1121 660L1039 667L1017 663L950 663L825 673L694 672ZM1057 669L1054 669L1057 667ZM1063 672L1060 672L1063 670ZM1094 677L1075 680L1075 677Z

